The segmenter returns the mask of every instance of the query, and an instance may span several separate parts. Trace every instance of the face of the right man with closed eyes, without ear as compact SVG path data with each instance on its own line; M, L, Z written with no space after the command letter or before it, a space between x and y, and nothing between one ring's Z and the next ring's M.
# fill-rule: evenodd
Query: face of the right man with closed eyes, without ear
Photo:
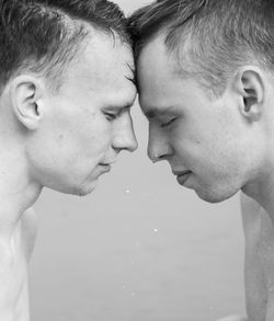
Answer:
M139 102L149 121L148 156L167 160L179 184L208 202L237 193L254 173L252 139L226 91L210 96L194 78L175 73L174 57L161 36L142 49L137 77ZM251 151L250 151L251 149ZM248 152L247 152L248 150Z

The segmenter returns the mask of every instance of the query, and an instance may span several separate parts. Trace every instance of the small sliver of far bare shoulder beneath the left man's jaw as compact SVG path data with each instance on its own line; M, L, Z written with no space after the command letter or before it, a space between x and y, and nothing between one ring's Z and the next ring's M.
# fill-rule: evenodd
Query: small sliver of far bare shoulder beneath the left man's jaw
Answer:
M23 247L28 261L37 236L37 215L33 208L26 209L22 215L21 228Z

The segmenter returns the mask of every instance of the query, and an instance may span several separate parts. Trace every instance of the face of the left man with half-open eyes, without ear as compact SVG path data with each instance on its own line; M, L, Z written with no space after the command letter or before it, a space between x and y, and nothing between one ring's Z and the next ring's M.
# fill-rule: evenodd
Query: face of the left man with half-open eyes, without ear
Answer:
M88 194L121 150L137 148L132 68L126 45L95 33L70 64L60 91L47 91L44 117L30 140L33 175L42 185Z

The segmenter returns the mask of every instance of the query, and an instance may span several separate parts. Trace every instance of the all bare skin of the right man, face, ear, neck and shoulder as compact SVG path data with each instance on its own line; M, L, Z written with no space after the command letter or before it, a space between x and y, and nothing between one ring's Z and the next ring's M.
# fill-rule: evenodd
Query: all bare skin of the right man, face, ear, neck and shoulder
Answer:
M137 66L148 156L168 161L178 182L204 200L221 202L240 190L252 197L242 200L247 310L251 321L272 321L273 76L242 66L217 98L197 77L180 72L163 39L159 34L148 42Z

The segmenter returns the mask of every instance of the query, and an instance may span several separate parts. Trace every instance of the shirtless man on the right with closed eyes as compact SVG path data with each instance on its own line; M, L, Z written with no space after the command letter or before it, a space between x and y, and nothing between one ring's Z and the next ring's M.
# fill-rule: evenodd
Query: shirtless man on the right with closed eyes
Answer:
M148 156L207 202L243 192L247 313L273 321L274 2L158 0L129 22Z

